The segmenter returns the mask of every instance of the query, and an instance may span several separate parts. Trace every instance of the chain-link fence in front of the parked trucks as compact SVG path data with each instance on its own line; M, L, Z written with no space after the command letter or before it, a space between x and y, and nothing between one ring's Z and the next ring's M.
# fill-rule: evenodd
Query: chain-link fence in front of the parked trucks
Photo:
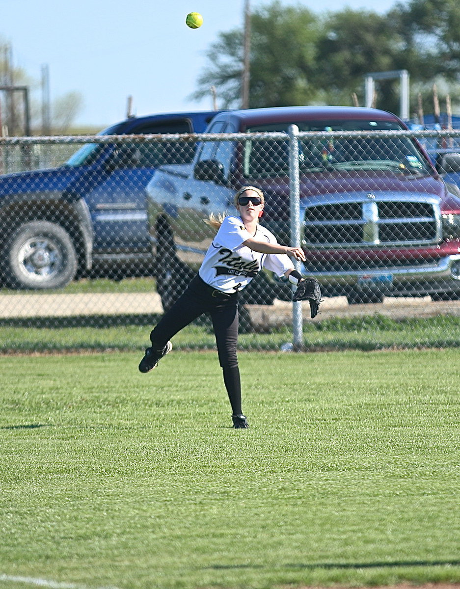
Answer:
M261 222L280 243L302 244L297 267L325 300L312 321L289 283L257 273L240 297L243 346L333 348L350 333L369 348L459 345L459 141L453 131L296 127L1 138L3 349L21 337L27 349L53 348L62 330L78 337L61 347L144 346L213 239L203 219L234 214L245 184L264 191ZM230 260L236 272L247 262ZM206 317L177 343L213 347Z

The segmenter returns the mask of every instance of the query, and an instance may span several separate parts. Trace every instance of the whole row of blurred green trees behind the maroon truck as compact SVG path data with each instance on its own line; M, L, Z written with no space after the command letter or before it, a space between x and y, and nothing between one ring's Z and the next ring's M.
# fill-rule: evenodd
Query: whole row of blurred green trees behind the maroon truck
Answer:
M250 107L300 104L363 104L363 77L406 69L415 85L460 80L460 4L456 0L399 2L388 14L345 8L314 14L305 6L274 0L251 15ZM240 106L243 31L221 32L209 67L192 98L217 89L220 107ZM399 112L399 81L377 85L377 105ZM416 111L417 93L412 95ZM432 103L431 103L432 105ZM429 109L430 111L432 108Z

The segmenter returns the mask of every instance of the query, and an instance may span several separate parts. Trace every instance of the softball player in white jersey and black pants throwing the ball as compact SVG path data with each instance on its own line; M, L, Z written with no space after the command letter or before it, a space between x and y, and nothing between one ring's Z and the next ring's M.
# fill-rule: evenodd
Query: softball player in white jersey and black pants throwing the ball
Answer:
M194 319L209 313L216 336L217 352L223 370L224 385L230 399L234 428L249 428L241 409L240 369L237 359L238 292L262 267L286 276L293 284L303 277L294 269L290 257L305 262L300 247L281 246L270 231L260 226L264 207L263 193L244 186L235 195L239 216L207 220L217 229L198 274L187 290L161 318L150 333L151 347L139 364L141 372L150 372L158 360L173 349L170 339ZM177 279L180 279L178 276Z

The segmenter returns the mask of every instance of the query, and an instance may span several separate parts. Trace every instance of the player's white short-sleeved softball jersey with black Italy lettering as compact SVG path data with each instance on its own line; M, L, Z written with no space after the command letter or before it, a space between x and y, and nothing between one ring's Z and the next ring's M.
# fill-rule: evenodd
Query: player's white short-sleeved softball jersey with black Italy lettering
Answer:
M247 286L262 267L278 276L293 268L286 254L262 254L241 245L251 237L277 243L265 227L258 224L256 233L251 235L240 217L226 217L204 256L199 271L201 279L216 290L233 293Z

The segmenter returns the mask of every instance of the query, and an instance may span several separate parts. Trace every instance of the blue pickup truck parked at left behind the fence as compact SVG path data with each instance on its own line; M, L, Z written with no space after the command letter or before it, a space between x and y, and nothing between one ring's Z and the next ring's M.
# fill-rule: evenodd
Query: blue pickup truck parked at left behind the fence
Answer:
M216 111L130 117L100 135L186 134ZM1 283L65 286L93 264L151 263L145 186L163 164L193 160L196 143L84 144L60 167L0 176Z

